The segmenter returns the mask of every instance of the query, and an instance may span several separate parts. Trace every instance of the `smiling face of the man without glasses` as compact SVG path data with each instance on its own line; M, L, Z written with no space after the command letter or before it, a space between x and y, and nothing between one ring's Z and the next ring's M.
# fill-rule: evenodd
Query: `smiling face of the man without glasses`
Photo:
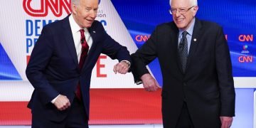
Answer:
M90 28L97 16L98 0L80 0L72 3L72 13L80 28Z

